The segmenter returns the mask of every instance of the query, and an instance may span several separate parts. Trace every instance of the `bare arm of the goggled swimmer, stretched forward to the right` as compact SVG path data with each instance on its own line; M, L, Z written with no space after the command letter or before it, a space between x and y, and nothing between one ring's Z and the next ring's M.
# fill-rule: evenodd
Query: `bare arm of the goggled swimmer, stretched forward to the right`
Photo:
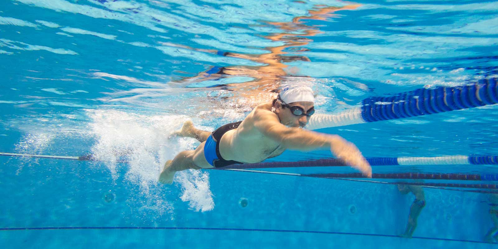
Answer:
M372 177L372 167L363 157L360 150L351 142L339 135L319 133L297 127L287 127L270 111L254 112L254 126L264 135L279 142L288 149L309 151L329 148L332 154L344 160L348 165L362 171L367 177Z

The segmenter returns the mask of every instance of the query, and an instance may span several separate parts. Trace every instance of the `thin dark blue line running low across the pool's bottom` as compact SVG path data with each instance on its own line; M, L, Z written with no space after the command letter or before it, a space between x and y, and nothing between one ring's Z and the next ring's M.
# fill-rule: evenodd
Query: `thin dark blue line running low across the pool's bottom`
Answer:
M0 228L0 231L28 231L28 230L208 230L208 231L242 231L242 232L275 232L275 233L305 233L305 234L330 234L330 235L356 235L356 236L375 236L402 238L397 235L385 234L366 234L366 233L346 233L331 231L312 231L312 230L280 230L280 229L250 229L250 228L200 228L200 227L24 227L24 228ZM458 240L447 238L432 237L412 237L412 239L497 244L484 241Z

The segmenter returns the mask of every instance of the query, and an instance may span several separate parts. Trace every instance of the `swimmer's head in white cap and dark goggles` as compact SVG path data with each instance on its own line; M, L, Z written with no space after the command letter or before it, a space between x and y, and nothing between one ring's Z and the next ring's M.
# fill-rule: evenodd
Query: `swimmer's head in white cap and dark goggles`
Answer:
M315 112L313 90L307 85L285 87L273 100L280 123L289 127L304 127Z

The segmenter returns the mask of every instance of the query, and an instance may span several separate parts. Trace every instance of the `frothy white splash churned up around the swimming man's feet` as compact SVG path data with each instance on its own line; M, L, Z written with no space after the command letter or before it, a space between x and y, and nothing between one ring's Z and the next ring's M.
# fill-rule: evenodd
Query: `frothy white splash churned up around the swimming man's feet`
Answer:
M157 184L167 159L196 146L193 139L170 138L171 132L185 122L183 116L146 116L115 110L89 111L89 116L93 119L90 128L97 137L92 154L105 162L114 179L120 176L118 172L125 171L126 179L141 188ZM128 163L120 166L120 161ZM208 173L178 172L176 182L181 188L181 200L188 202L191 209L213 210Z

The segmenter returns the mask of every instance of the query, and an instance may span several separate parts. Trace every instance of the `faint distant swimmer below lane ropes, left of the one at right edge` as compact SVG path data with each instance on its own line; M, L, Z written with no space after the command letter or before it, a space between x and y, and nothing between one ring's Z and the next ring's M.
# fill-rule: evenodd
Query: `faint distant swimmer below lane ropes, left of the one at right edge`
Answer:
M417 228L418 216L420 215L422 209L425 207L424 190L421 186L415 185L398 184L397 186L401 194L405 195L411 192L413 193L413 195L415 195L415 200L410 207L410 214L408 215L408 223L406 224L405 232L400 235L401 237L411 238L413 232L415 231L415 228Z

